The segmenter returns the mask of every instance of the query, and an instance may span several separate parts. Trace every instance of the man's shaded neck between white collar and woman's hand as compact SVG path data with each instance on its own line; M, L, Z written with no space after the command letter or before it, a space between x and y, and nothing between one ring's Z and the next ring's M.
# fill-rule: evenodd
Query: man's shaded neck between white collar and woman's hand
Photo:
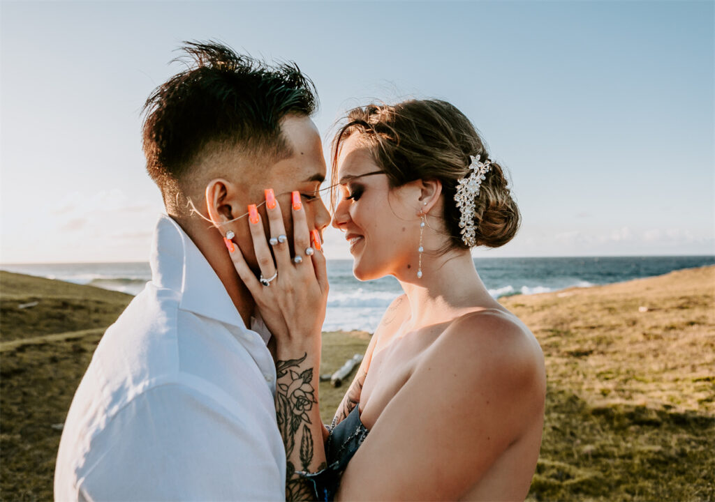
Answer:
M226 288L228 296L236 306L236 310L240 314L247 328L251 327L251 316L254 313L255 301L251 296L250 291L241 281L236 268L231 261L231 256L226 250L223 239L220 234L213 228L206 228L205 224L195 224L194 221L179 219L172 216L174 221L182 227L184 232L194 242L196 247L201 251L209 262L211 268L214 269L221 283Z

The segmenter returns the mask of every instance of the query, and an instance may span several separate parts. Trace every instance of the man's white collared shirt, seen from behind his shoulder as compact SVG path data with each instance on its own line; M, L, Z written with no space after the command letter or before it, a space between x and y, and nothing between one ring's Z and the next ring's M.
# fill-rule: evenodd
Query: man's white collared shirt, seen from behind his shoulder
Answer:
M162 215L152 281L107 329L59 445L64 501L285 500L275 365L189 236Z

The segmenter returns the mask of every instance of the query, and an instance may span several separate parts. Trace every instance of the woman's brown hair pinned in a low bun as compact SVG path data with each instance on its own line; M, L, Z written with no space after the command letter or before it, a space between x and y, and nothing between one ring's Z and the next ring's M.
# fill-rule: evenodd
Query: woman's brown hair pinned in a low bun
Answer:
M375 163L388 176L390 187L417 179L442 182L445 228L450 234L447 249L468 249L459 228L456 186L460 178L470 175L470 155L480 156L482 161L489 157L469 119L446 101L420 99L360 106L347 113L346 121L332 141L332 179L337 179L342 141L360 134ZM335 192L331 201L335 207ZM492 161L475 198L475 246L503 246L516 234L520 221L503 170Z

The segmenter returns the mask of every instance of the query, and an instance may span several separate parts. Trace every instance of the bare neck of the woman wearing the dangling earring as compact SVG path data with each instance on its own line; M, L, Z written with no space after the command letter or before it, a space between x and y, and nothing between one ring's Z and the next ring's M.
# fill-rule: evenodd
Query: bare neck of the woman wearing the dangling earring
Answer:
M405 328L412 331L448 321L469 308L498 306L479 277L467 250L423 258L422 278L399 278L410 303L411 316Z

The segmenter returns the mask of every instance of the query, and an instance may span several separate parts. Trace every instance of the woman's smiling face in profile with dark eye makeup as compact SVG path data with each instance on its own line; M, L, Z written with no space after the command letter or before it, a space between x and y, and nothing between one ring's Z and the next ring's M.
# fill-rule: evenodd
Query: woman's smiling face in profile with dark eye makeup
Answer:
M332 226L345 231L352 271L361 281L417 271L420 216L418 190L390 189L360 134L342 142L337 159L338 201ZM368 176L365 176L365 175ZM414 199L414 200L413 200Z

